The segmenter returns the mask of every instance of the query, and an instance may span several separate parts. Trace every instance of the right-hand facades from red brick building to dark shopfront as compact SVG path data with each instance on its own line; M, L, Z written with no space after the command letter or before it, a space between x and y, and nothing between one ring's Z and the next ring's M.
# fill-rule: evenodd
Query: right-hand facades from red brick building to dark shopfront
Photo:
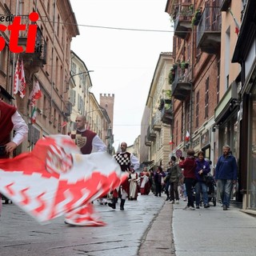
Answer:
M204 150L214 167L230 145L238 162L232 199L249 211L255 209L254 10L246 0L166 3L174 22L172 153Z

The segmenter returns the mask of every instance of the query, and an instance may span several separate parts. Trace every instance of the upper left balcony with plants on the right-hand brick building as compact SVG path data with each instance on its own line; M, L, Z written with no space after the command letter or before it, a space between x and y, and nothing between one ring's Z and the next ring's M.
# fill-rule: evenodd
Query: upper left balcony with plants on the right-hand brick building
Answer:
M185 39L192 30L193 9L191 1L182 2L178 6L178 12L174 15L174 35Z

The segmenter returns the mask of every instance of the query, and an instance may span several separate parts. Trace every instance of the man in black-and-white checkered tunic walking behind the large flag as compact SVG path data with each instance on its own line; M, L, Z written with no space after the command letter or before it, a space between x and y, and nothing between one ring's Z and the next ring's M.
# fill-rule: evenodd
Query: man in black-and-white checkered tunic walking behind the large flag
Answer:
M127 172L130 174L131 165L134 166L134 170L138 169L139 167L138 158L136 158L134 154L131 154L126 151L127 149L126 142L122 142L120 147L121 147L121 152L119 152L118 154L115 154L114 159L118 162L123 172ZM126 198L129 195L128 178L129 178L129 175L127 175L127 179L124 182L122 182L119 189L113 191L112 203L109 202L108 204L108 206L110 206L112 209L116 208L116 203L118 202L118 196L119 196L121 198L120 210L124 210Z

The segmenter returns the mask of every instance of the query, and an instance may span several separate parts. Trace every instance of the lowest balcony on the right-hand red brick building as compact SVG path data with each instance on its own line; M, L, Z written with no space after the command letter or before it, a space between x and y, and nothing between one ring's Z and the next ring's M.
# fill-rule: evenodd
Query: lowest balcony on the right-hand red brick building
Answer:
M190 96L192 84L190 82L190 69L178 68L175 72L174 82L171 86L174 98L185 101Z

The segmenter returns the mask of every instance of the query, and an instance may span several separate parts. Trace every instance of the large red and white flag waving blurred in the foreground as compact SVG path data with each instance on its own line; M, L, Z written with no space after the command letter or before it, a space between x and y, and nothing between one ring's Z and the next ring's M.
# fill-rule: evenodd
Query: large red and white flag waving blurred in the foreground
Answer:
M126 178L109 154L81 154L66 135L42 138L32 152L0 160L0 192L38 222L85 206L91 223L102 226L90 202Z

